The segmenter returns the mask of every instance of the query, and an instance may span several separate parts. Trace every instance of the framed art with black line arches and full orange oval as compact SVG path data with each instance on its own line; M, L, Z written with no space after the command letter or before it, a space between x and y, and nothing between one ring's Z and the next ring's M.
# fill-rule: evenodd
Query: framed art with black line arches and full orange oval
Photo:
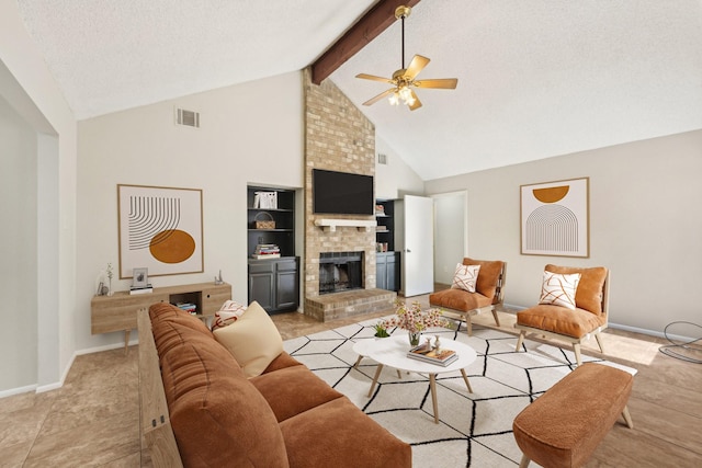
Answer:
M202 190L117 185L120 278L202 273Z

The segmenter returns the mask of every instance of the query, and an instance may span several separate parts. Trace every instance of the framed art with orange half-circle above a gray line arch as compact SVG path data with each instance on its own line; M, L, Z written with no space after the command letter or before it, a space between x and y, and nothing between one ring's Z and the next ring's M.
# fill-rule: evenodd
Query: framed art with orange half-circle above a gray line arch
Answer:
M521 253L590 255L589 178L521 186Z

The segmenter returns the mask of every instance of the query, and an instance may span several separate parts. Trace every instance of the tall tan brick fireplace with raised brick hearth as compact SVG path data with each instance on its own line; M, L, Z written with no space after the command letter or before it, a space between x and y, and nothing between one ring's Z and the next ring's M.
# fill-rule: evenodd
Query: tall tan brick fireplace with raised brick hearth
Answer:
M315 215L312 171L325 169L375 175L375 127L329 80L305 87L305 259L304 313L317 320L351 317L392 307L395 293L375 288L375 229L361 226L320 227L321 218L374 221L374 216ZM354 252L360 258L360 286L320 294L320 259ZM332 273L333 274L333 273ZM337 272L337 275L339 272ZM324 288L322 288L324 289ZM326 294L324 294L326 293Z

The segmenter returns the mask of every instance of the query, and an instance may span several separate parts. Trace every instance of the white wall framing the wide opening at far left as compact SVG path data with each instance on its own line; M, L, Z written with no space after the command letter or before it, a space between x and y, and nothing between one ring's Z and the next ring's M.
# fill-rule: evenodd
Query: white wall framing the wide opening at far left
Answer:
M37 355L35 378L43 390L63 379L76 350L76 121L13 0L0 0L0 95L37 133L35 176L45 183L36 193L36 229L27 231L36 239L37 293L32 304L38 321L35 333L42 340L30 353ZM48 216L47 199L54 203ZM27 346L19 338L13 343L18 350Z

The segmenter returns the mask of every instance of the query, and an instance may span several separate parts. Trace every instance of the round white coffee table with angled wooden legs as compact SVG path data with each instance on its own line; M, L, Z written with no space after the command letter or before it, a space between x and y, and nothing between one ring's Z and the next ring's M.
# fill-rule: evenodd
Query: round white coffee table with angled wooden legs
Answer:
M422 339L423 340L423 339ZM373 395L377 379L381 376L383 366L389 366L398 370L407 370L417 374L429 375L429 387L431 389L431 403L434 410L434 422L439 424L439 404L437 401L437 375L460 370L465 381L465 386L469 393L473 393L468 376L465 374L465 368L475 361L476 354L467 344L450 340L448 338L441 338L441 347L445 350L453 350L458 355L458 358L448 366L440 366L437 364L424 363L422 361L412 359L407 357L407 352L410 350L409 339L406 334L399 334L397 336L384 338L375 340L367 344L363 351L365 355L378 363L371 389L369 390L369 398Z

